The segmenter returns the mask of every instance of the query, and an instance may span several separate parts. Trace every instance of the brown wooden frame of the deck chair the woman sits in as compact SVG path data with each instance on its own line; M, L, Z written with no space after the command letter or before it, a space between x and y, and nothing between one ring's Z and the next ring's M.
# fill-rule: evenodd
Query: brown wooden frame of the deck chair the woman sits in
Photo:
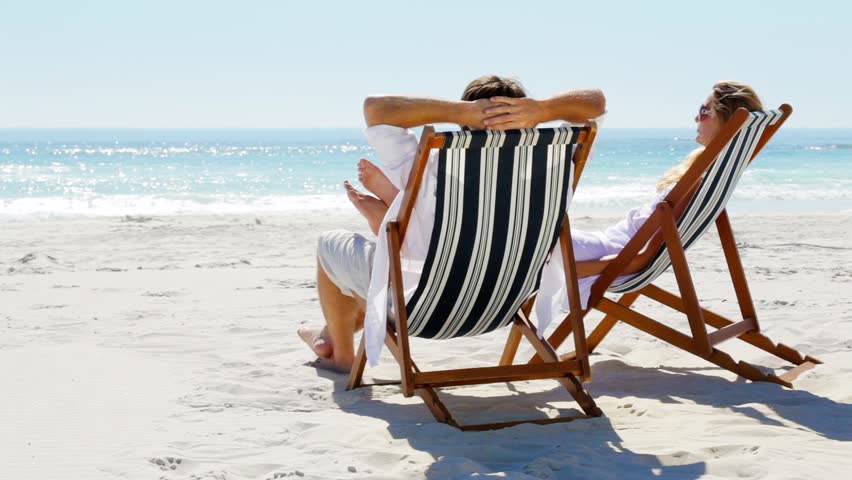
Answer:
M764 129L763 135L749 159L749 163L754 160L754 157L757 156L793 111L787 104L781 105L780 110L784 112L783 116L774 125L768 125ZM664 201L657 205L654 213L642 225L639 231L636 232L619 255L606 266L598 280L593 284L588 308L582 311L580 316L581 318L585 318L589 311L595 309L603 312L605 317L588 337L587 347L589 352L597 348L618 321L622 321L752 381L774 382L792 388L793 380L803 372L822 363L811 356L802 355L782 343L776 344L760 333L757 313L752 302L745 271L743 270L736 241L734 240L734 232L726 210L722 210L721 214L717 217L716 229L719 233L722 251L724 252L731 275L742 319L733 321L702 307L695 290L695 284L692 281L684 246L677 230L677 219L686 209L704 172L710 168L716 156L746 122L748 115L748 111L740 108L722 126L716 138L707 145L705 151L696 159L695 163L684 174L675 188L672 189ZM610 300L605 297L607 289L616 278L626 273L635 273L628 272L627 267L629 262L643 248L647 248L647 251L655 252L661 247L665 247L668 250L671 258L671 267L674 271L681 296L649 284L639 290L625 293L617 300ZM578 264L580 263L578 262ZM640 296L647 297L685 314L691 334L684 334L630 308ZM572 314L575 308L577 307L572 304ZM569 314L569 318L572 314ZM572 332L582 334L582 330L575 330L573 324L573 320L564 320L548 338L548 342L555 348L559 348ZM714 330L708 331L708 326L713 327ZM516 335L513 332L507 340L503 362L511 363L514 359L513 352L517 349L517 339L515 337ZM775 375L774 373L764 373L764 371L750 363L744 361L737 362L729 354L716 347L720 343L733 338L738 338L790 362L794 367L781 375ZM562 355L560 358L570 359L576 355L577 353L570 352ZM587 352L581 352L581 355L587 355ZM535 355L530 359L529 363L536 364L540 361L541 358Z

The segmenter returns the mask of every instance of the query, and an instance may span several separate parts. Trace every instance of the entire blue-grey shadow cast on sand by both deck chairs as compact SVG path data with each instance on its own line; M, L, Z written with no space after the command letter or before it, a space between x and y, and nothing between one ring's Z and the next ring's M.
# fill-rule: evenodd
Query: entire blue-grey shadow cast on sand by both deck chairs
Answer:
M701 369L695 368L643 368L619 360L596 362L594 370L595 381L590 387L595 397L647 398L673 404L687 399L728 409L765 425L788 426L750 406L760 404L784 420L823 437L852 440L852 429L848 428L852 425L852 405L806 391L741 379L731 382L697 373ZM606 416L561 424L524 424L489 432L461 432L435 422L418 397L403 399L395 385L348 392L345 376L328 372L320 375L334 379L334 398L342 410L387 422L394 438L404 439L413 448L434 457L436 461L427 471L428 478L503 472L504 478L689 479L707 473L706 464L696 461L694 456L661 452L669 454L661 457L625 448ZM558 410L561 416L580 413L567 392L555 382L554 388L537 392L519 392L508 384L504 394L489 397L465 395L463 387L442 389L439 394L462 423L536 415L545 418L547 410ZM677 444L676 440L672 443Z

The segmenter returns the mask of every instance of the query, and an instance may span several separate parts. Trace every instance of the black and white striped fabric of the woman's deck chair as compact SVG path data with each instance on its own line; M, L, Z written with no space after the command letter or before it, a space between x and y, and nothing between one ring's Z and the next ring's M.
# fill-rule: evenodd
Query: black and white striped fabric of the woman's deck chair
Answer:
M688 249L716 221L725 209L737 182L748 166L767 125L774 125L783 112L751 112L751 116L716 157L704 174L695 196L677 222L684 249ZM657 279L671 265L669 251L660 248L653 260L629 280L609 288L613 293L639 290Z

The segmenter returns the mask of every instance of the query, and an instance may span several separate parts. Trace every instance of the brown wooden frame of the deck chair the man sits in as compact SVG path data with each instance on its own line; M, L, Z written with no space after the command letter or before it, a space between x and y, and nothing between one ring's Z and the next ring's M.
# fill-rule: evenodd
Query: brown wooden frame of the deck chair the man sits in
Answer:
M590 122L583 127L583 130L580 133L580 137L577 141L578 145L574 149L574 154L572 156L572 161L574 162L574 181L572 187L576 187L577 185L579 174L582 172L586 159L589 156L589 151L596 134L597 126L594 122ZM418 394L426 403L426 406L432 412L432 415L436 420L442 423L447 423L461 430L493 430L497 428L510 427L520 423L547 424L602 415L601 410L595 405L594 400L583 388L583 385L577 378L578 376L580 378L586 378L589 375L588 354L585 353L587 350L585 345L585 334L575 336L575 352L579 353L570 359L560 359L555 349L538 335L535 326L533 326L529 320L529 313L532 309L535 298L534 296L524 302L519 311L515 313L512 331L516 332L519 336L518 343L520 342L521 336L526 338L530 344L532 344L537 355L540 356L543 361L530 365L498 364L493 367L421 371L412 360L411 348L408 341L408 319L402 285L400 246L405 238L405 232L411 216L411 211L414 208L414 202L417 198L417 193L426 170L426 164L429 160L429 153L433 148L442 148L444 146L444 142L445 138L440 134L436 134L433 127L426 126L424 128L420 139L420 145L417 150L417 155L415 157L415 162L412 167L412 172L411 175L409 175L408 183L403 193L400 213L395 222L388 222L386 232L384 232L384 234L388 236L388 256L390 259L388 290L392 296L394 306L392 323L389 322L387 327L385 345L399 364L401 377L401 381L399 383L402 386L403 394L406 397L410 397L415 393ZM572 291L579 292L576 280L577 277L574 273L576 271L576 267L574 264L574 255L571 243L564 241L565 238L570 236L570 225L568 223L567 214L564 215L560 235L563 239L562 256L565 264L565 279ZM574 298L577 298L577 295L574 295ZM577 306L579 307L579 305ZM579 309L574 309L574 311L579 313ZM569 315L569 318L571 328L574 329L574 331L584 331L582 318L579 314ZM365 340L362 337L358 347L358 352L355 356L355 363L349 376L347 390L367 386L362 382L366 362ZM559 381L559 383L561 383L565 389L568 390L568 393L577 401L584 414L570 417L461 425L450 414L447 407L438 397L436 390L439 387L448 386L476 385L547 378Z

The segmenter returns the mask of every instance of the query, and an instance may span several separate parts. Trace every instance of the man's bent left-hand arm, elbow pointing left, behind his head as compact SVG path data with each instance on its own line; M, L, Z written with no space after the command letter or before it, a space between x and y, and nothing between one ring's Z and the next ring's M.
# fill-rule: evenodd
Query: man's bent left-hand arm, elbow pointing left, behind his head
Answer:
M402 95L370 96L364 100L364 120L368 127L394 125L402 128L430 123L456 123L470 128L484 128L488 99L475 102L406 97Z

